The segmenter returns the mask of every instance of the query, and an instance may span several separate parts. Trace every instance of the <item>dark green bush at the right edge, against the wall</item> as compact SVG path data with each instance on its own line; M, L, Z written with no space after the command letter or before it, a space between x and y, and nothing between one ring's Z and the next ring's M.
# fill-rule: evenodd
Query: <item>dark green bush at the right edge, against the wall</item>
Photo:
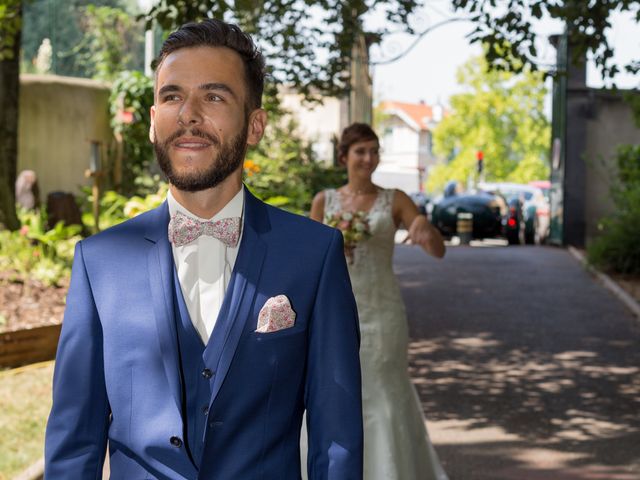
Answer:
M640 145L618 148L618 181L611 190L616 210L600 223L587 248L589 262L621 274L640 274Z

